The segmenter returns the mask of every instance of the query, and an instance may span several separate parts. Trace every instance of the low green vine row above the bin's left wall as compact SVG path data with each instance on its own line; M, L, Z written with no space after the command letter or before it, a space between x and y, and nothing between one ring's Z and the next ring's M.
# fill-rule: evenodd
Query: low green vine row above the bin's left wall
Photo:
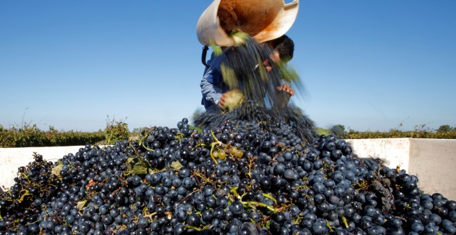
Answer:
M41 131L36 124L4 129L0 126L0 147L53 147L95 144L104 140L104 133L59 132L52 126Z

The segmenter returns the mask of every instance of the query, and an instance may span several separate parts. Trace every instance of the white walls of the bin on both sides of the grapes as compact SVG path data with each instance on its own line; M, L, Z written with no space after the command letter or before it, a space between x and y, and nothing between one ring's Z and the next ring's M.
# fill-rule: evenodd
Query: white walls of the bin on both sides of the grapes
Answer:
M390 168L400 166L419 178L419 187L427 194L441 193L456 200L456 140L365 139L347 140L361 158L381 158ZM58 160L84 146L0 148L0 186L14 185L17 168L33 161L33 153L46 160Z

